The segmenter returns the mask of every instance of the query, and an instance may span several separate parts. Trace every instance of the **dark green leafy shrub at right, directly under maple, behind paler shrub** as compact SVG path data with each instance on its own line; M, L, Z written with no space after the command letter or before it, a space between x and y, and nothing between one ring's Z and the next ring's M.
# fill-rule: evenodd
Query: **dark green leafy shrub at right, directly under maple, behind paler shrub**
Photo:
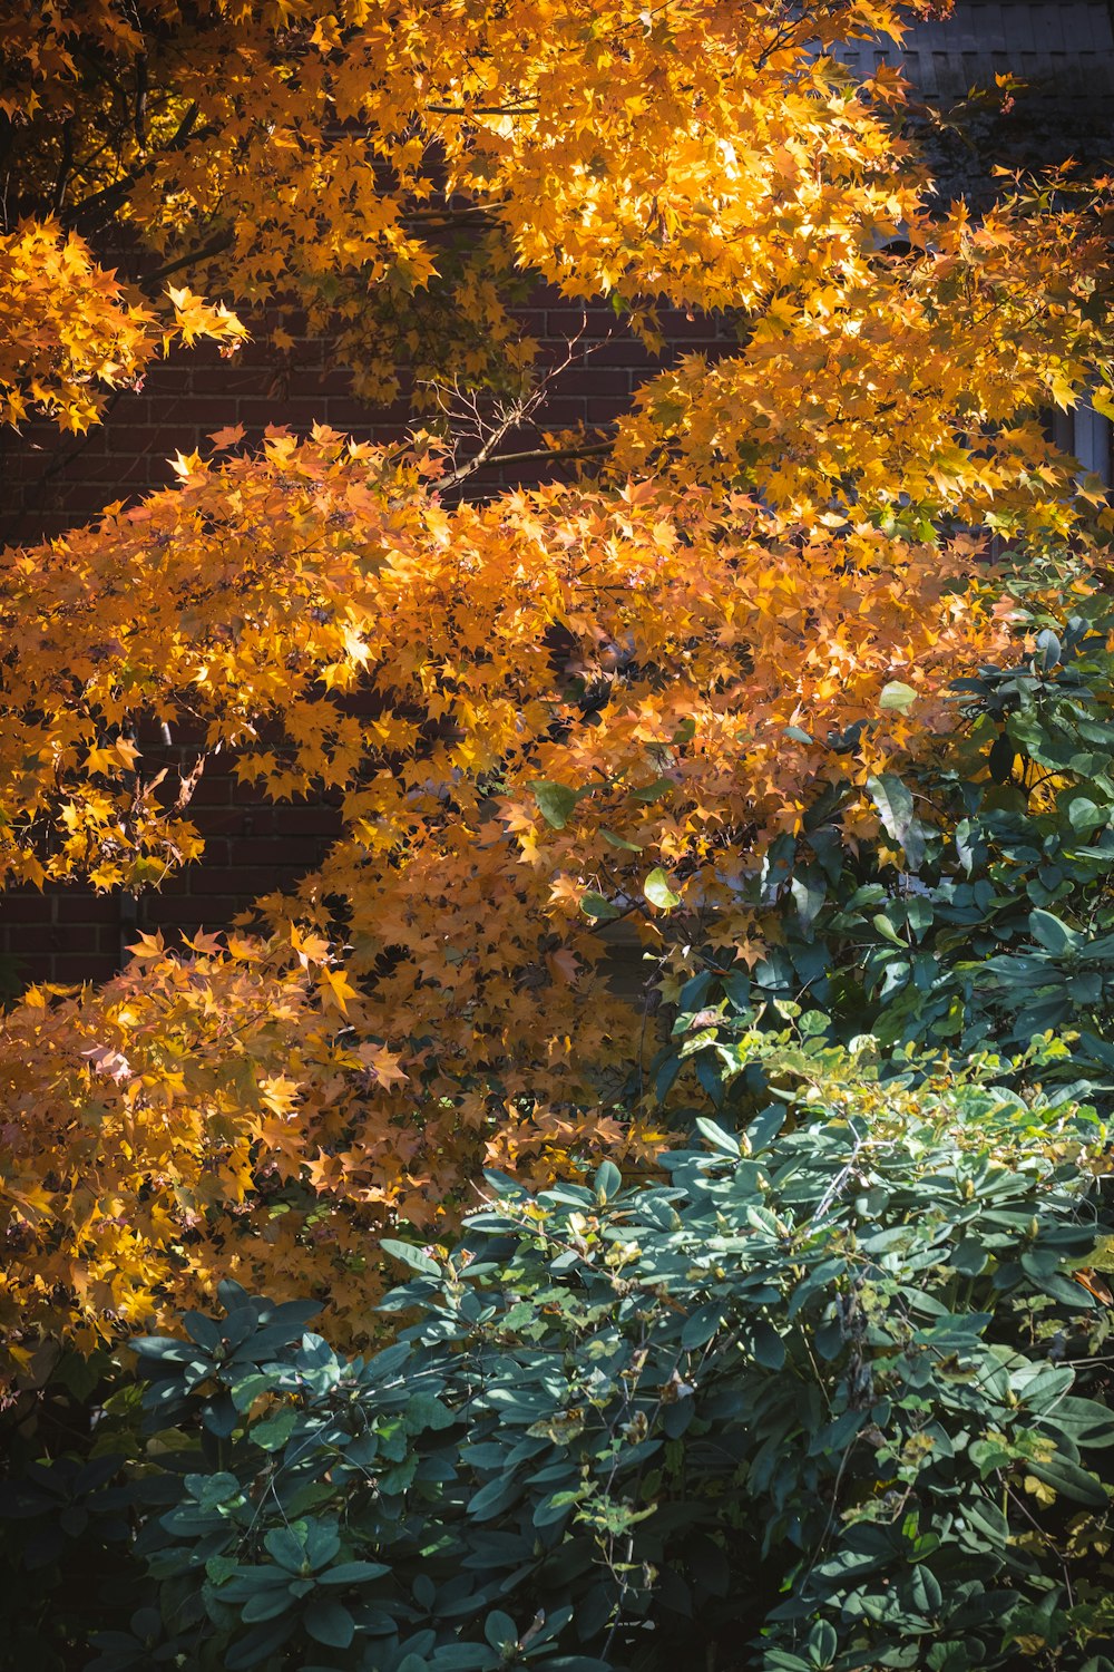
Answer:
M767 955L747 976L710 953L685 1008L807 1000L832 1037L957 1053L1072 1030L1076 1072L1109 1078L1114 614L1067 582L1054 612L1015 590L1029 649L957 681L954 734L870 779L877 839L845 833L860 789L825 788L750 883ZM675 1068L665 1052L663 1083Z

